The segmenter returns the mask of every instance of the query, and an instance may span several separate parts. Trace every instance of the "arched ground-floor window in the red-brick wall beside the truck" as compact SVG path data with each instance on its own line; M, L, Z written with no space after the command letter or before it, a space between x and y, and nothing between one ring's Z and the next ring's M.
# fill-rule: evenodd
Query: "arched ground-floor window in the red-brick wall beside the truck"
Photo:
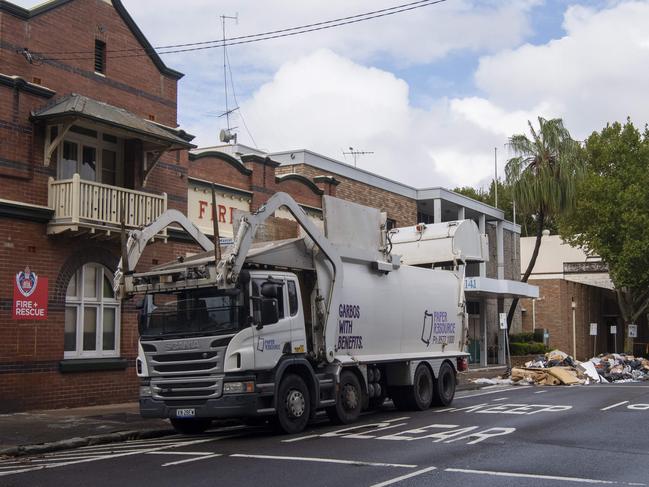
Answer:
M100 264L85 264L70 279L65 296L65 358L119 355L120 303L113 276Z

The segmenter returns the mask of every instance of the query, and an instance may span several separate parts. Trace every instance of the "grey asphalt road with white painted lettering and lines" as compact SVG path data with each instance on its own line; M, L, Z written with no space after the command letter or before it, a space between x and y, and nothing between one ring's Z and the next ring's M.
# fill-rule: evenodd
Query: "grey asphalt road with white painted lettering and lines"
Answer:
M648 383L482 389L294 436L234 426L0 461L2 487L575 484L649 485Z

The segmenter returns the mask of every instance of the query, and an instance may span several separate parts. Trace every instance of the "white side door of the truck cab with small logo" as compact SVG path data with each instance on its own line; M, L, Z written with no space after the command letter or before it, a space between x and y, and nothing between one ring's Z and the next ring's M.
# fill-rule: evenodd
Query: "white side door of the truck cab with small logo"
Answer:
M259 328L253 324L253 337L255 344L255 369L272 369L282 356L285 346L290 347L291 343L291 322L290 313L287 311L286 280L283 277L269 275L265 278L251 279L251 306L250 309L257 309L261 299L262 285L271 283L278 286L277 311L279 320L277 323L264 325ZM286 345L288 343L288 345Z

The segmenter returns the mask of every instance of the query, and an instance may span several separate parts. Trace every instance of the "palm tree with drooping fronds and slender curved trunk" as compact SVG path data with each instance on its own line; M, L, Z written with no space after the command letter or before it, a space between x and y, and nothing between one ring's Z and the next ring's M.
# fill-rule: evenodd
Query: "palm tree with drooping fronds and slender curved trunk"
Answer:
M508 145L516 156L505 167L517 208L522 214L533 215L536 226L534 251L522 282L527 282L536 264L544 225L574 207L576 181L583 172L581 147L563 121L542 117L538 121L538 131L527 122L531 138L524 134L510 137ZM507 313L508 329L517 305L518 298L514 298Z

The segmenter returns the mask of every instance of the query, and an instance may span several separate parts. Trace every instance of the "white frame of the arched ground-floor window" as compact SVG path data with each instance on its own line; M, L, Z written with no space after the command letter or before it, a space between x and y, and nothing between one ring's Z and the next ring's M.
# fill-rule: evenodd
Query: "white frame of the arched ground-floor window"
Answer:
M94 267L97 270L95 278L95 294L96 297L85 296L84 277L88 267ZM112 273L103 265L89 262L84 264L77 272L77 296L68 296L66 288L65 307L74 308L76 310L76 343L75 350L64 351L63 358L103 358L103 357L119 357L120 352L120 336L121 336L121 303L118 299L104 297L103 285L104 278L107 278L112 283ZM74 277L73 277L74 279ZM95 350L83 349L83 316L85 307L97 308L97 328L95 336ZM112 308L115 310L115 349L103 350L104 339L104 309ZM67 313L66 313L67 314Z

